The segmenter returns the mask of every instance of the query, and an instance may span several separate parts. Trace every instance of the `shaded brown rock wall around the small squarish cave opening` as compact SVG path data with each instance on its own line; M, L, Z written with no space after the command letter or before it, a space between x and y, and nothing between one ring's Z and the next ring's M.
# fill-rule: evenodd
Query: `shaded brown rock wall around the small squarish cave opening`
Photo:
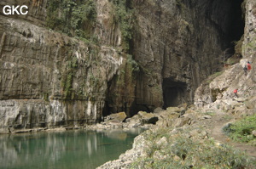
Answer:
M232 46L233 2L138 1L134 8L137 27L133 54L143 70L143 77L137 79L135 103L151 110L163 105L192 104L195 88L221 69L222 51ZM183 90L173 96L179 100L177 104L165 100L167 81L172 82L169 88Z

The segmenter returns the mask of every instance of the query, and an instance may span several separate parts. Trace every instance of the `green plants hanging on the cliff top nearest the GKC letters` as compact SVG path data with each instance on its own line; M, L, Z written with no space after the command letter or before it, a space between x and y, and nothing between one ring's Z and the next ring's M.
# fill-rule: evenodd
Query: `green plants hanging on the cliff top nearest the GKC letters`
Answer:
M46 25L71 37L90 38L96 21L96 3L93 0L49 0Z

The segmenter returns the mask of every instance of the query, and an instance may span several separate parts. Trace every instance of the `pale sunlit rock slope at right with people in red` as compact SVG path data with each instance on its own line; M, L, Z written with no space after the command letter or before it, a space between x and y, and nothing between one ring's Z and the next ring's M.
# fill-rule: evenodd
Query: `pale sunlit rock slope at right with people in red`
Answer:
M209 79L206 85L198 87L195 91L195 105L201 107L206 104L216 103L222 106L224 110L230 110L230 99L236 99L233 91L238 89L238 99L253 100L255 96L256 79L255 79L255 33L254 29L256 19L255 13L256 3L254 1L247 1L245 3L246 8L246 25L244 32L244 39L242 45L243 58L240 63L230 66L230 68L224 70L220 73L218 77L214 79ZM247 61L252 63L252 70L248 70L247 75L245 75L242 68L247 65ZM248 109L253 108L253 106L247 103Z

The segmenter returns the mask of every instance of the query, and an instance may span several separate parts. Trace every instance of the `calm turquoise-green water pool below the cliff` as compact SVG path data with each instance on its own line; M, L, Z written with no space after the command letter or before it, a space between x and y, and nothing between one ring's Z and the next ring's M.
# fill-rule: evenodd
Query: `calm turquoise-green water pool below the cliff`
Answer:
M0 168L92 169L131 149L139 129L0 135Z

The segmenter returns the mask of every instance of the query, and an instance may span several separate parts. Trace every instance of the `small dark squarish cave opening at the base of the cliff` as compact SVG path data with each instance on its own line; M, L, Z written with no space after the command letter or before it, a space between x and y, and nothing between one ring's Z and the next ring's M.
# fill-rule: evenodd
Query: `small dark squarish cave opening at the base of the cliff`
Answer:
M165 78L162 87L164 109L171 106L177 106L179 104L183 104L184 102L186 102L186 84L184 82L173 82L172 79Z

